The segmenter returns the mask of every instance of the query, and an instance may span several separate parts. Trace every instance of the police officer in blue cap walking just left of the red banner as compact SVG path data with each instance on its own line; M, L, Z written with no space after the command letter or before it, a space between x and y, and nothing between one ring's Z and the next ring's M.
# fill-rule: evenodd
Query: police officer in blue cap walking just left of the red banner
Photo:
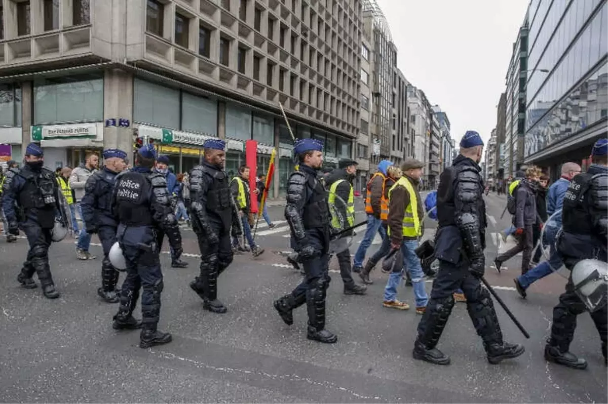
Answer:
M201 250L201 272L190 287L204 301L204 309L226 313L226 307L218 300L218 276L233 258L230 225L235 236L242 233L224 171L226 143L209 139L203 147L204 162L190 172L190 219Z

